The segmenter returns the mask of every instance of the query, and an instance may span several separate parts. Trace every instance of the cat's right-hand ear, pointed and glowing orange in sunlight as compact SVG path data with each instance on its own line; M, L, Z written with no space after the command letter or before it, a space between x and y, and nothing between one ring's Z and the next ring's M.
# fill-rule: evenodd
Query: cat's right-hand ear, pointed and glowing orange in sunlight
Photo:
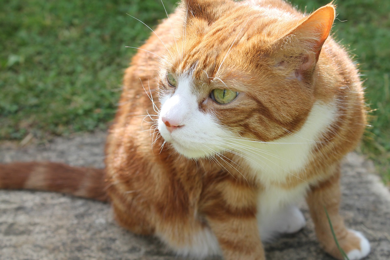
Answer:
M298 68L296 68L298 77L304 77L313 71L322 46L332 29L334 19L334 6L325 5L277 41L278 48L284 50L287 56L299 60Z

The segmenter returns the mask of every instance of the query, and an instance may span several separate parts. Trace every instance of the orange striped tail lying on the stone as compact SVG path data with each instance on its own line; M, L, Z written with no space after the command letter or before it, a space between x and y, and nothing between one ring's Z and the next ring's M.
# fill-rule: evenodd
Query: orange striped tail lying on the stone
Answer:
M0 164L0 189L54 191L107 201L104 169L55 162Z

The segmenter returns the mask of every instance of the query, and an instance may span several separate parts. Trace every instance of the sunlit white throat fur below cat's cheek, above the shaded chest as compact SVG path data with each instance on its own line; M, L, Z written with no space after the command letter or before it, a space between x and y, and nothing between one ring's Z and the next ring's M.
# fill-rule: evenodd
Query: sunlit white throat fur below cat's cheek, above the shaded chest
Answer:
M317 102L298 132L272 143L243 140L240 143L248 150L239 152L248 158L262 183L285 182L287 176L298 175L304 170L316 142L325 141L321 135L335 121L336 113L336 105Z

